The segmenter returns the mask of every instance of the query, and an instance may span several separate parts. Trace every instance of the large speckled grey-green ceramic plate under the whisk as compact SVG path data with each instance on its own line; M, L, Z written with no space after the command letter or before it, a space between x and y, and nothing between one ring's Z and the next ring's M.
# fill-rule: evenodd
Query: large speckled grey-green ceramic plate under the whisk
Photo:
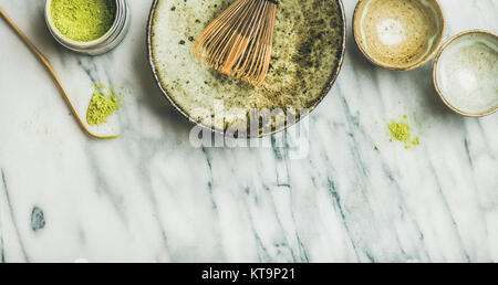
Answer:
M281 1L270 71L258 87L225 76L191 54L194 39L232 1L154 1L147 44L160 89L187 118L215 131L250 126L252 109L295 113L299 122L326 96L341 70L346 40L341 0ZM287 114L282 117L284 122ZM276 122L282 120L272 120L271 128L260 125L257 136L290 126Z

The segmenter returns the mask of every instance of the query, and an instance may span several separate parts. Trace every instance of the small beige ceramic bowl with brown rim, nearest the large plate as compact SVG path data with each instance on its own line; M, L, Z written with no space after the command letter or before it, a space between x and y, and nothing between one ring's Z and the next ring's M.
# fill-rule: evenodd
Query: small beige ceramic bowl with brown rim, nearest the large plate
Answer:
M437 0L360 0L353 33L375 65L411 71L430 61L443 43L445 18Z

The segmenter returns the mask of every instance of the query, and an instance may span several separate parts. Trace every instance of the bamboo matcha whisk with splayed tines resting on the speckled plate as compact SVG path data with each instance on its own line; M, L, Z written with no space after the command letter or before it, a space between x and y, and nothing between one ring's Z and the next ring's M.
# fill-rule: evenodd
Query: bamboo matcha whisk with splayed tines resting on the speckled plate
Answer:
M193 53L252 85L264 82L271 59L277 0L236 0L199 35Z

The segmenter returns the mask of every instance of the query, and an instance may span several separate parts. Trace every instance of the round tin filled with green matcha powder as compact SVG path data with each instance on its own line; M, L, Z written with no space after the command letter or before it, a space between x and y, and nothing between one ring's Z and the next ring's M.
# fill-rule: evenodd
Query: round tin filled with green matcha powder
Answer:
M63 46L98 55L117 46L129 27L126 0L46 0L45 20Z

